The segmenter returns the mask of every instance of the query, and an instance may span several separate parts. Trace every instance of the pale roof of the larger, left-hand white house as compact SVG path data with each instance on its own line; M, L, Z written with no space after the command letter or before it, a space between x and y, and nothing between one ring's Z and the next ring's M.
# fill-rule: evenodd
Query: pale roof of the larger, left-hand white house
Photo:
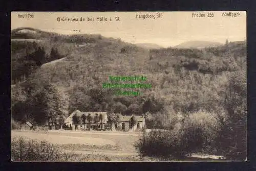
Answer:
M92 116L92 121L91 121L91 123L94 123L94 116L97 114L98 116L100 115L100 114L102 114L102 123L106 123L107 121L108 121L108 116L106 115L106 112L81 112L80 110L76 110L76 111L74 111L73 113L71 113L70 115L69 115L69 117L67 117L67 119L65 120L65 123L70 123L70 122L72 122L72 118L73 118L73 116L75 115L75 114L77 114L78 116L82 116L83 114L84 115L86 115L86 116L88 116L89 114ZM99 124L100 124L100 121L98 122Z

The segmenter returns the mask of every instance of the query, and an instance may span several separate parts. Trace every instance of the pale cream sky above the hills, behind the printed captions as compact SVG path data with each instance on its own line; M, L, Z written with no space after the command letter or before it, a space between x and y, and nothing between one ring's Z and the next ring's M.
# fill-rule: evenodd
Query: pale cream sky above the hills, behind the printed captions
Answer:
M34 18L18 18L18 14L34 13ZM162 18L136 18L136 14L162 13ZM195 13L195 12L194 12ZM198 13L198 12L197 12ZM201 12L206 14L208 12ZM32 27L61 34L101 34L131 43L156 43L174 46L189 40L239 41L246 37L246 12L238 17L193 17L193 12L12 12L11 29ZM28 16L28 15L27 15ZM118 16L120 21L115 21ZM86 21L57 21L57 17L83 17ZM88 21L88 17L94 21ZM108 21L96 21L105 17ZM112 21L110 20L110 17ZM80 30L74 32L73 30Z

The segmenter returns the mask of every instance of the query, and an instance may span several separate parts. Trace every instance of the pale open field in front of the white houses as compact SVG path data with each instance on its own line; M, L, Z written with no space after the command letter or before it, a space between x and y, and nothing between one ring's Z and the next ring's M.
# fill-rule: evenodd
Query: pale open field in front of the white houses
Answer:
M66 152L84 156L82 161L161 161L150 157L141 158L134 147L139 132L117 131L12 131L12 138L47 140ZM89 157L90 156L90 157ZM220 156L192 154L174 161L209 161Z

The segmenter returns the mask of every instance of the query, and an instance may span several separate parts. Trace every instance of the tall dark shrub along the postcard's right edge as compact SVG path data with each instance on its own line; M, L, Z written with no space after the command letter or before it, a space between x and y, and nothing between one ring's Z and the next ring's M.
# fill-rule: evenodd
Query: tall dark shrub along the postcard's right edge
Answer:
M246 159L246 73L231 75L224 92L224 112L217 115L219 136L218 150L230 160Z

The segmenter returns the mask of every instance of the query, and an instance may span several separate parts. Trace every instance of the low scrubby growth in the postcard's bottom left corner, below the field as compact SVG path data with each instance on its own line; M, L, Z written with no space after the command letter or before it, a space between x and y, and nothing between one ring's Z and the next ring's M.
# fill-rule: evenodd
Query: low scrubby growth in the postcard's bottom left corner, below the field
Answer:
M47 141L26 140L14 137L11 144L13 161L77 161L78 155L65 153L57 145Z

